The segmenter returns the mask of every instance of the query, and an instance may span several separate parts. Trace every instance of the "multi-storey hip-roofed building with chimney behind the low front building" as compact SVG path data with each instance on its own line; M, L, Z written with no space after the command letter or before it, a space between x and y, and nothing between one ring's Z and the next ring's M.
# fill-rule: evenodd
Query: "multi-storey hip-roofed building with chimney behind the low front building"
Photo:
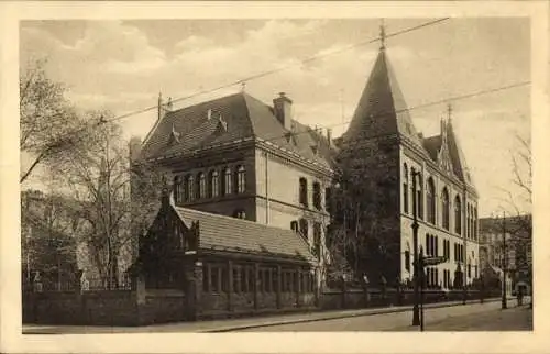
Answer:
M294 230L322 274L336 152L330 132L293 119L284 93L270 107L239 92L179 110L161 97L139 158L168 176L178 208Z

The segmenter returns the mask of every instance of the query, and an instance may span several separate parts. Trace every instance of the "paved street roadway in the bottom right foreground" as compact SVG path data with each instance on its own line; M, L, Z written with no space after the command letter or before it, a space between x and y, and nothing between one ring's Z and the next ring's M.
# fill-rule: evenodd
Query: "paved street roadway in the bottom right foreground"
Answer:
M385 313L326 321L251 328L244 331L418 331L410 325L411 311ZM507 310L501 302L468 305L425 311L426 331L529 331L532 330L532 310L516 307L510 301Z

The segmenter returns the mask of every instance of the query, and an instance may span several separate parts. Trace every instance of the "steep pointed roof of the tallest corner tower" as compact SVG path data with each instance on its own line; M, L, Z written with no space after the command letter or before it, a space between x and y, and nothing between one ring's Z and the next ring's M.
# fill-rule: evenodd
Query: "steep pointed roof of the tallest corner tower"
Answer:
M409 137L422 147L386 51L382 48L343 140L391 134Z

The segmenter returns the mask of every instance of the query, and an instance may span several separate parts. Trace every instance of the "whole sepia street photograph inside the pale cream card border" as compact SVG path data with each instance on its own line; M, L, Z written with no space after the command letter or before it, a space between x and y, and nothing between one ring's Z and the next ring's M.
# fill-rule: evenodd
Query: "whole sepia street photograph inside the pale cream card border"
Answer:
M13 22L19 333L532 333L532 19L428 14Z

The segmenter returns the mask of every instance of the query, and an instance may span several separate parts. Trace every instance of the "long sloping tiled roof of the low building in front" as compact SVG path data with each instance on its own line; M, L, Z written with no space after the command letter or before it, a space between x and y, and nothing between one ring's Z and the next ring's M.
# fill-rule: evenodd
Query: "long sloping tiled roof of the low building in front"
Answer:
M190 226L199 222L199 247L284 256L316 262L307 242L293 230L278 229L253 221L173 207Z

